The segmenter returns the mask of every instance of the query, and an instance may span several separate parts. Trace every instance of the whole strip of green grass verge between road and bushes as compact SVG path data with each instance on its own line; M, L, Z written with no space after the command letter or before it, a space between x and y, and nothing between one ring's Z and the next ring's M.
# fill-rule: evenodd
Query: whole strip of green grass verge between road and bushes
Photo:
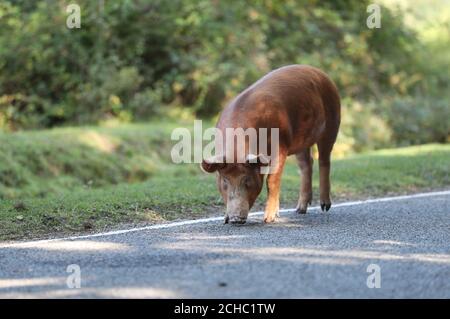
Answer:
M67 128L0 134L0 240L101 231L220 215L214 176L170 162L180 124ZM192 122L184 126L192 127ZM450 145L380 150L335 159L334 201L450 186ZM318 197L315 163L314 196ZM299 176L285 168L282 206L294 207ZM263 207L265 192L255 209Z

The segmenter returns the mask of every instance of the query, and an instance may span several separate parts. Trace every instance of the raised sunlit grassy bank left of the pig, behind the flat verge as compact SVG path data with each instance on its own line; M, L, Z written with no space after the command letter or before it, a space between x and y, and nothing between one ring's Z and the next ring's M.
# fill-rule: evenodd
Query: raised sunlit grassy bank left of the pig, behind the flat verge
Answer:
M170 161L175 127L154 123L0 134L0 199L145 181Z

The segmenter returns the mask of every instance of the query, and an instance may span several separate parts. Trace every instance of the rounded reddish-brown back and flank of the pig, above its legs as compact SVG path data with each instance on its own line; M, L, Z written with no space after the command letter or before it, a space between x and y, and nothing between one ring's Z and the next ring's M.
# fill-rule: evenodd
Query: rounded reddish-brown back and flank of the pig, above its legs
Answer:
M321 70L307 65L276 69L240 93L222 112L218 127L277 127L288 145L309 144L339 122L339 95ZM294 146L293 148L298 148Z

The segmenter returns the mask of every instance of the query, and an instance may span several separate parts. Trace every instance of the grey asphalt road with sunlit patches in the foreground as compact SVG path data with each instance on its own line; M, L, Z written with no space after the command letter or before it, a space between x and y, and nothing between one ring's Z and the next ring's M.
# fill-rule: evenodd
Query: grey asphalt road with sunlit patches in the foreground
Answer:
M0 243L0 297L450 298L450 192L261 219Z

